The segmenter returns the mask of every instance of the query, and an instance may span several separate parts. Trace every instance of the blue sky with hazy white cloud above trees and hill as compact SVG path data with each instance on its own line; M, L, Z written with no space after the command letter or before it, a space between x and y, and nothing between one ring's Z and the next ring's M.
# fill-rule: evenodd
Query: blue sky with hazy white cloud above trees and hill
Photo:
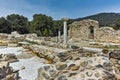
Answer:
M34 14L46 14L75 19L103 12L120 13L120 0L0 0L0 17L20 14L32 20Z

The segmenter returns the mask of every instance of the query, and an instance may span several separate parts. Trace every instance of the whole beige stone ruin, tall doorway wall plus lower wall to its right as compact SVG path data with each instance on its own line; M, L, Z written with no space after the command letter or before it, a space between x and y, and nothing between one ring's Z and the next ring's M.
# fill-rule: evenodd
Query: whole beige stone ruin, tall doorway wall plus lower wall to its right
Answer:
M98 21L87 19L69 25L69 38L77 40L93 39L100 42L120 43L120 31L111 27L99 28Z

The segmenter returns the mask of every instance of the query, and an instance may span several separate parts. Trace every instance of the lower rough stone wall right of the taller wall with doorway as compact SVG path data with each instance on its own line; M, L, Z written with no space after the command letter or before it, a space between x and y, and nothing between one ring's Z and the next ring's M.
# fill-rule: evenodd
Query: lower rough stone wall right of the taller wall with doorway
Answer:
M120 43L120 30L102 27L97 30L96 41Z

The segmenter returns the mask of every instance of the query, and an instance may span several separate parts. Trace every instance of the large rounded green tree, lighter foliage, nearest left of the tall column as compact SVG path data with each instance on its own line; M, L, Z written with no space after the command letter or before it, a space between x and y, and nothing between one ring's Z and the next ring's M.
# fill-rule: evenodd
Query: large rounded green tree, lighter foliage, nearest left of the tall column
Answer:
M33 15L33 20L30 22L30 32L36 32L39 36L51 36L53 19L44 14Z

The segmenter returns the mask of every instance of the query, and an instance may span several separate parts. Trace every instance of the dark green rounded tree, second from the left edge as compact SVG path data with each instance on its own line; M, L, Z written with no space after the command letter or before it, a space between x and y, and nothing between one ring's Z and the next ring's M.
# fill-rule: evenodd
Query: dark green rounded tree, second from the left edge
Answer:
M28 19L19 14L11 14L7 16L8 22L11 24L12 31L24 34L28 33Z

